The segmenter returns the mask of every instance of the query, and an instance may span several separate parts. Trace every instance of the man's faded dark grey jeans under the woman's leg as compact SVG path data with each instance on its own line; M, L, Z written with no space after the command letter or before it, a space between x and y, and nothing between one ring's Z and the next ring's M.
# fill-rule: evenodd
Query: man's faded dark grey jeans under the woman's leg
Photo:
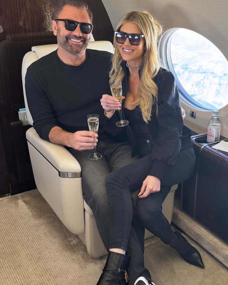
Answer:
M99 160L91 160L88 155L93 154L93 150L78 151L70 149L71 154L78 160L82 169L83 198L92 209L96 225L102 242L107 251L109 250L109 205L108 194L105 185L105 178L115 171L138 159L131 158L132 149L126 143L105 143L98 142L97 153L103 155ZM131 256L128 268L129 285L133 285L139 276L151 278L150 272L144 267L144 226L137 217L137 193L132 193L131 200L133 209L133 219L129 226L129 243L127 255Z

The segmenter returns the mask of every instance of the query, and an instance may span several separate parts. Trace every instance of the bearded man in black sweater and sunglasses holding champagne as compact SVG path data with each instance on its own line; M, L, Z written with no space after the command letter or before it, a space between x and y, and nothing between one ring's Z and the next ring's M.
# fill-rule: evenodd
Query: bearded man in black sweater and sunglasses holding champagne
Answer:
M80 0L60 0L54 19L53 32L57 36L58 50L31 64L26 73L29 110L39 136L66 146L79 161L83 197L93 210L99 234L108 250L109 210L105 177L110 171L137 158L131 158L131 146L126 138L115 141L103 128L105 116L100 98L102 94L110 93L108 70L111 54L86 50L93 28L91 11ZM88 131L86 116L94 113L99 115L99 140L96 133ZM88 155L95 145L103 157L90 160ZM127 251L131 256L129 285L134 284L139 276L151 278L144 267L144 228L137 220L137 193L132 201L134 218Z

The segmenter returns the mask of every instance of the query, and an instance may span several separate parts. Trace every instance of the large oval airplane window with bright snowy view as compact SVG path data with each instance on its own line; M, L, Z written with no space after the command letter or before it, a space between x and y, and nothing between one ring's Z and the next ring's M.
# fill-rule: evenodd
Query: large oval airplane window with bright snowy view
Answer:
M185 103L204 110L227 105L228 62L212 42L188 29L171 29L159 50Z

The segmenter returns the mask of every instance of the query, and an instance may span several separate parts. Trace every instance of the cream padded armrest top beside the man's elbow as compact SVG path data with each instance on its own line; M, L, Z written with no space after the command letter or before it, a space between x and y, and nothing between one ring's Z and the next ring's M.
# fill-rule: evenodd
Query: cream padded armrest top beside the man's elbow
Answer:
M43 140L33 127L27 130L26 138L58 171L81 172L77 159L64 146Z

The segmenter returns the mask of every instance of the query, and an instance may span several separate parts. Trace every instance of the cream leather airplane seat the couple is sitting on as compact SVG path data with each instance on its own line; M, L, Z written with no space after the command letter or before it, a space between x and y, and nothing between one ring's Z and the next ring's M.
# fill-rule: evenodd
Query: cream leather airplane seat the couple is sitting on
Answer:
M107 41L90 42L88 48L113 52ZM32 47L22 63L22 81L26 113L30 125L33 119L29 112L25 93L25 75L29 65L42 56L57 49L57 44ZM99 236L95 218L83 200L81 167L77 160L61 145L41 139L33 127L26 132L32 169L37 189L70 232L77 234L87 247L88 253L96 258L107 253ZM163 203L163 212L169 222L172 218L174 185ZM146 231L145 238L153 234Z

